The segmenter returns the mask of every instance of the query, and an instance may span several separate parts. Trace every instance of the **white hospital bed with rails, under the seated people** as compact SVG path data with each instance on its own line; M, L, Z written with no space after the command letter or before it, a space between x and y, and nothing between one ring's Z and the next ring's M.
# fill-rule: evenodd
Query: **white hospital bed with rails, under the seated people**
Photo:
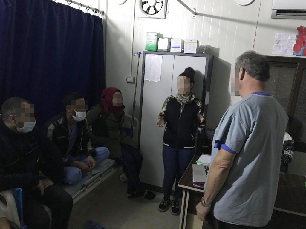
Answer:
M125 122L122 127L125 129L127 134L130 134L131 130L131 120L132 116L125 115ZM138 129L139 120L134 118L134 129ZM107 158L105 161L101 162L92 173L85 174L82 177L81 182L75 185L62 185L62 187L67 191L73 198L73 203L76 203L91 190L101 184L104 180L114 174L121 167L112 159ZM120 175L121 181L126 181L126 176L124 173ZM49 208L44 206L47 210L50 219L51 211ZM15 223L18 227L26 229L26 225L23 222L23 209L22 209L22 189L16 188L13 190L6 190L0 192L0 210L5 214L6 218Z

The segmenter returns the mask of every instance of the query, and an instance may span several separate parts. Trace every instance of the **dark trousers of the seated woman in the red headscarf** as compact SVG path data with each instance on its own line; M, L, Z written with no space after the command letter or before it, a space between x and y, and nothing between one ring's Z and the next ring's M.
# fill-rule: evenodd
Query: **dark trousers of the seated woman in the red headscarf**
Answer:
M122 156L114 158L120 165L128 178L127 193L132 195L141 188L139 173L142 166L142 155L139 150L121 143Z

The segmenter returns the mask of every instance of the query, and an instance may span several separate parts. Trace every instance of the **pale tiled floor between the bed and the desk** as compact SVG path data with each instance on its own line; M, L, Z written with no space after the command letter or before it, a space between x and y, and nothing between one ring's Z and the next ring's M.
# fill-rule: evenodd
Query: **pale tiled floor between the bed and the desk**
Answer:
M69 229L83 229L86 220L98 221L106 229L174 229L180 216L158 211L163 195L156 193L152 201L144 198L128 199L126 183L119 180L119 173L88 193L73 205Z

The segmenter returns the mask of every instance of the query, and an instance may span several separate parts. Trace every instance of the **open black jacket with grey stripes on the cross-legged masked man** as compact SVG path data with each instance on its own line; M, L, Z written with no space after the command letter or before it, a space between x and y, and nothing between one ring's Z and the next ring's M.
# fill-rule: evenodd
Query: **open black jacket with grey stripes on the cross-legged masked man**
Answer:
M72 160L65 158L69 147L69 130L66 113L61 112L60 114L50 118L46 123L45 128L47 136L53 140L60 149L64 166L71 166ZM77 122L77 130L78 134L76 141L69 154L76 157L80 153L84 153L87 156L95 157L96 153L92 148L86 118L81 122Z

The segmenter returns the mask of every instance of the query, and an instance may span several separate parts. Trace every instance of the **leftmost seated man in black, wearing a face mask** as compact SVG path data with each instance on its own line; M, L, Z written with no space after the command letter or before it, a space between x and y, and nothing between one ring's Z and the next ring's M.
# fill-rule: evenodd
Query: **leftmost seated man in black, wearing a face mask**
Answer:
M11 97L1 107L0 191L23 189L24 222L29 229L67 228L73 200L61 187L63 166L58 147L35 127L34 105ZM48 178L40 178L39 171ZM43 204L43 205L42 205Z

